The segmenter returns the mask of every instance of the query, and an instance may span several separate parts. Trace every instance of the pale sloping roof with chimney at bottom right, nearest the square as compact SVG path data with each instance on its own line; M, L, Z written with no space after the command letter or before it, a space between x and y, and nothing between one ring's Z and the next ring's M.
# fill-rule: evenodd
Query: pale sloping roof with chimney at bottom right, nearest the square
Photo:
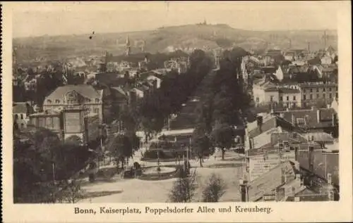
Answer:
M282 168L285 169L287 181L294 180L294 165L291 162L286 161L250 182L248 191L249 200L259 200L263 197L264 193L271 192L277 189L277 187L285 184L285 181L283 181L282 177Z

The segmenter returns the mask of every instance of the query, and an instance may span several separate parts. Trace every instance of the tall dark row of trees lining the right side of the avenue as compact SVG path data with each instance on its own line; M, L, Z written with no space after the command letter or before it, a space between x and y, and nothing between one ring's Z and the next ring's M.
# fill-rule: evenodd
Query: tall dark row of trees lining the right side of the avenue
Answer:
M241 58L247 52L239 47L225 51L220 59L220 70L213 77L196 113L197 124L193 132L193 151L198 155L202 167L203 155L214 147L225 150L234 143L234 127L242 125L241 110L250 104L250 97L243 91L241 79Z

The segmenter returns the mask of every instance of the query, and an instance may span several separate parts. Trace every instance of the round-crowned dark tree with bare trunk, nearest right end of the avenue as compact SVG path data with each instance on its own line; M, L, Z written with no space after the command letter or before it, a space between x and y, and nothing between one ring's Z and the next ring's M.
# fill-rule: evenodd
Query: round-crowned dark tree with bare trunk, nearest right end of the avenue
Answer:
M222 160L225 160L225 150L232 147L234 142L234 129L224 123L216 123L215 129L211 133L211 138L215 146L218 146L222 150Z

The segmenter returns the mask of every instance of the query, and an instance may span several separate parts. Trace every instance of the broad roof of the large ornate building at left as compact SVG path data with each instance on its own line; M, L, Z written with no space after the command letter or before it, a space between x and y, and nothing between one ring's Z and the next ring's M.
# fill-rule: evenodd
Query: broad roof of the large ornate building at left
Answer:
M78 94L84 96L85 98L102 98L102 90L96 90L94 87L88 84L78 84L78 85L65 85L56 88L52 94L47 96L47 99L55 100L64 98L68 91L76 91Z

